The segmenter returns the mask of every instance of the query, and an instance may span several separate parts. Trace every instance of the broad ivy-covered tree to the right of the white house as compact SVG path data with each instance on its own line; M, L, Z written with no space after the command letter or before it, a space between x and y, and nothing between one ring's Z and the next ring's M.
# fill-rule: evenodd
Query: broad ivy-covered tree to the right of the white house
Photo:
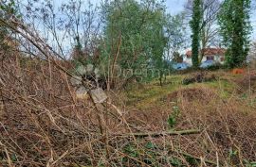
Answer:
M223 43L228 48L226 61L230 68L244 65L249 51L251 34L250 0L225 0L218 22Z

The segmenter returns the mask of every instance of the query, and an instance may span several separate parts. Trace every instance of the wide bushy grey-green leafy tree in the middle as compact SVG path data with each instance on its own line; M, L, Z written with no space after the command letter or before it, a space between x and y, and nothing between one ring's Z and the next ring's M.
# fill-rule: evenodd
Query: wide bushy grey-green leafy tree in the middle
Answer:
M105 27L101 58L109 63L110 77L117 65L134 72L142 66L143 69L161 71L167 44L162 3L155 0L111 1L104 6L103 14Z

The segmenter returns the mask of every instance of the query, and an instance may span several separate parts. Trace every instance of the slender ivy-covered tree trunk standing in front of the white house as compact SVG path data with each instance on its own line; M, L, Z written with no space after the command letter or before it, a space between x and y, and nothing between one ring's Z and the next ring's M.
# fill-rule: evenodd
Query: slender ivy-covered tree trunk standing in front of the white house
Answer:
M202 0L193 0L192 5L192 21L190 22L192 28L192 66L198 68L199 66L199 49L200 49L200 30L202 22Z

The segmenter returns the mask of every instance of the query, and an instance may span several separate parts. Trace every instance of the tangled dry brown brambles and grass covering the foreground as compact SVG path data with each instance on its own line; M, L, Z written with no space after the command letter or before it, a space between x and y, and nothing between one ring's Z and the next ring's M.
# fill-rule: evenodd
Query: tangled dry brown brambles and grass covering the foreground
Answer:
M10 56L0 65L2 166L246 166L256 159L255 104L235 92L223 98L223 89L204 83L160 92L149 86L155 91L140 98L150 108L126 107L112 92L122 113L107 103L100 112L90 100L76 99L69 76L53 63L20 62ZM175 130L201 133L133 136L169 131L174 109Z

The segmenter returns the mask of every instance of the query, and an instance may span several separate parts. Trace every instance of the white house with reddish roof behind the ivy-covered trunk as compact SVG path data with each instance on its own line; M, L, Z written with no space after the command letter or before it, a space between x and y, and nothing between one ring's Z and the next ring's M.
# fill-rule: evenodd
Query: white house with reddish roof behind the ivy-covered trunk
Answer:
M226 49L223 48L205 48L201 52L204 53L202 62L213 60L216 63L224 64ZM192 50L188 50L185 54L184 62L192 65Z

